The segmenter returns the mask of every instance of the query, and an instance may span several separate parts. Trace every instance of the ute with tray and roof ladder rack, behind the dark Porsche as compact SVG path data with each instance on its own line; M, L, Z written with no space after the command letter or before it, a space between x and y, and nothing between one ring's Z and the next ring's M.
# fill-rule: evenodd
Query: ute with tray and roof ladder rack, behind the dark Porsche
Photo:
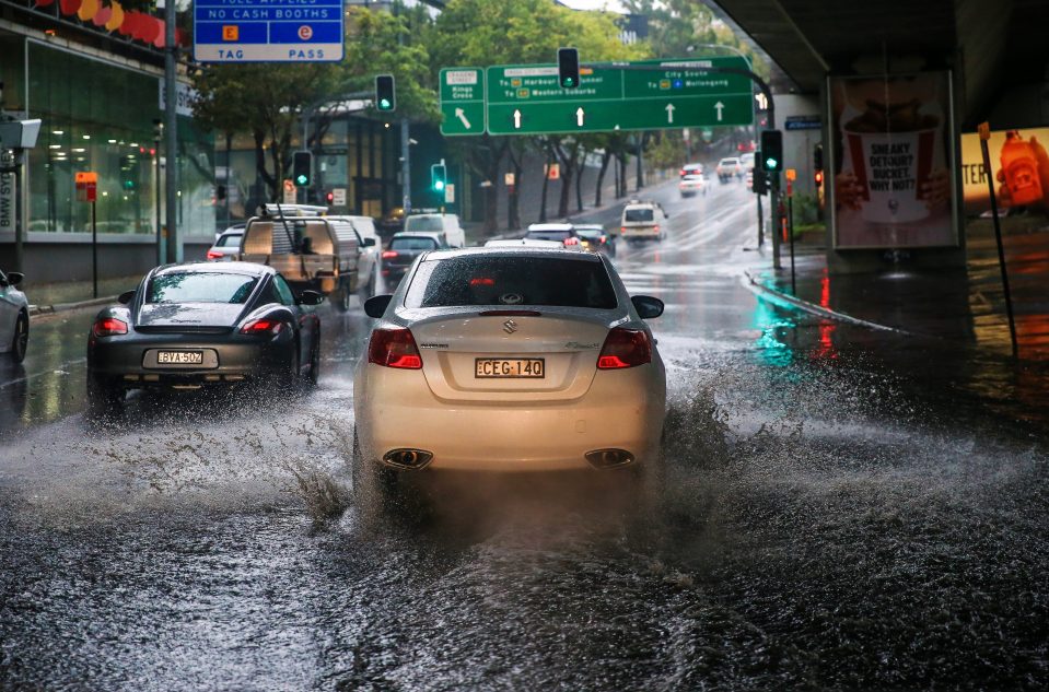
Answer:
M354 293L374 291L378 257L366 250L375 246L348 218L267 215L248 220L237 258L273 267L296 290L317 291L347 310Z

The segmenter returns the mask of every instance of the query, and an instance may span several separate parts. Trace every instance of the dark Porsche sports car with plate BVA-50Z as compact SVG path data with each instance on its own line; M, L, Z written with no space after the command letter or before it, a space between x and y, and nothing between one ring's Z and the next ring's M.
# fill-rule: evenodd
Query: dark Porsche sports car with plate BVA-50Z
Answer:
M193 262L151 270L88 336L88 404L118 410L128 389L271 379L316 384L319 293L295 295L271 267Z

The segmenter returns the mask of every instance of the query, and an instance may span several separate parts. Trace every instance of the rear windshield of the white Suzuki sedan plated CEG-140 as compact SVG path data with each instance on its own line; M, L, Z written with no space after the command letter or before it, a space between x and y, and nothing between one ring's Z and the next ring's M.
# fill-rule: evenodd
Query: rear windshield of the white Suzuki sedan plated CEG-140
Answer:
M467 305L616 307L616 291L599 261L558 257L474 256L422 262L407 307Z

